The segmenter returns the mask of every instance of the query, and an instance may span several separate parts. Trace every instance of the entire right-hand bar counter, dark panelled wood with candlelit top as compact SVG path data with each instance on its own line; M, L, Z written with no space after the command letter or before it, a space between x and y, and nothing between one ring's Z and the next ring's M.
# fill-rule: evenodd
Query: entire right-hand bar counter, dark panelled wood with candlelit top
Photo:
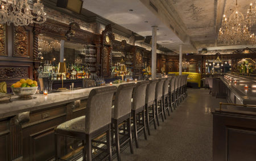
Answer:
M212 112L213 160L255 160L255 80L233 74L214 78L213 95L228 101Z

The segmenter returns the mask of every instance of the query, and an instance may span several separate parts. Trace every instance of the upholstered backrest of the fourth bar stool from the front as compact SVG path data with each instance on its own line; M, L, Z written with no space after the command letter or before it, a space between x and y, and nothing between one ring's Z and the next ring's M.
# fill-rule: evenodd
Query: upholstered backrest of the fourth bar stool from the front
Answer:
M158 82L158 79L152 79L150 80L150 83L147 84L145 104L151 103L152 101L155 100L156 82Z

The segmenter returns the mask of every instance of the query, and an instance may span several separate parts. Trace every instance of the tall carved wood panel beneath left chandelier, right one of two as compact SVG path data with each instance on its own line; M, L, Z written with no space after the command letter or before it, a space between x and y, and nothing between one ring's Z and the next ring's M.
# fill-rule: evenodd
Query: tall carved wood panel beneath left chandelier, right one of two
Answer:
M14 27L14 53L15 57L29 57L28 33L22 26Z

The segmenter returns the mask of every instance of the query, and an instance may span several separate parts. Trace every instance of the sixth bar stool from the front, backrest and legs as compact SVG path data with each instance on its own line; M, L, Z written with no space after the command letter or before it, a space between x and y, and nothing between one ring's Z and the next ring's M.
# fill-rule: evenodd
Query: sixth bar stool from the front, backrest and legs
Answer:
M163 113L164 113L164 118L166 119L166 110L168 112L168 116L170 116L170 107L169 107L169 99L168 99L168 94L169 94L169 83L170 83L170 78L167 78L166 81L163 83Z

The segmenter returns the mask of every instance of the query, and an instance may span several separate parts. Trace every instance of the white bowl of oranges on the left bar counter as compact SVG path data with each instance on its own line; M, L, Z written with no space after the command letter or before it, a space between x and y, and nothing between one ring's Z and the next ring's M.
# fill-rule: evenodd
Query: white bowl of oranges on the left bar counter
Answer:
M11 90L13 94L19 96L20 98L27 98L35 95L38 90L38 82L31 79L20 79L19 82L11 85Z

